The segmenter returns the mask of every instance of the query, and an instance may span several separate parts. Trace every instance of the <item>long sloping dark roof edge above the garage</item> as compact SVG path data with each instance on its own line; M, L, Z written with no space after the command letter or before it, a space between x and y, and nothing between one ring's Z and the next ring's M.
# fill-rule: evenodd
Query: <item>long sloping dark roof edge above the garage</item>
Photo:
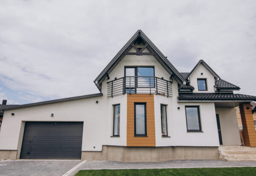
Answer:
M37 105L46 105L50 103L56 103L56 102L65 102L65 101L70 101L70 100L76 100L76 99L84 99L84 98L90 98L90 97L100 97L102 96L102 93L98 94L89 94L89 95L82 95L78 97L69 97L69 98L63 98L63 99L54 99L54 100L49 100L45 102L36 102L36 103L29 103L29 104L24 104L24 105L6 105L6 107L2 107L3 105L0 106L0 110L9 110L9 109L17 109L17 108L26 108L26 107L31 107L31 106L37 106Z

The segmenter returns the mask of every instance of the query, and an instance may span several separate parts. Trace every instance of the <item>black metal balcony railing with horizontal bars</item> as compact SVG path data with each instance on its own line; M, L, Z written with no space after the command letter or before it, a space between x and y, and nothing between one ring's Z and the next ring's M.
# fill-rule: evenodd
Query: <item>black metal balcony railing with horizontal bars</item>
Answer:
M158 77L122 77L107 84L108 97L122 94L157 94L172 97L172 82Z

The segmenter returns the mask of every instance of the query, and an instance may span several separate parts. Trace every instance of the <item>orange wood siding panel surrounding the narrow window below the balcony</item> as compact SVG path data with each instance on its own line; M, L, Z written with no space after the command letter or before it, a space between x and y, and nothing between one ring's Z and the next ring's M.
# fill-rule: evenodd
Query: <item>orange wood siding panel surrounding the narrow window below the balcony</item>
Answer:
M145 102L148 137L134 137L134 102ZM127 94L127 146L155 147L154 94Z

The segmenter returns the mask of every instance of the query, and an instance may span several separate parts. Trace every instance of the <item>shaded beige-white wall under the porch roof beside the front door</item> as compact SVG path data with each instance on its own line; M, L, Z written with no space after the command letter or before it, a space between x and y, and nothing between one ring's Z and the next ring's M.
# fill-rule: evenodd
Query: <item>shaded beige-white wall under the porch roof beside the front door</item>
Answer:
M219 114L221 125L221 136L223 145L240 146L240 134L235 108L216 108L216 114Z

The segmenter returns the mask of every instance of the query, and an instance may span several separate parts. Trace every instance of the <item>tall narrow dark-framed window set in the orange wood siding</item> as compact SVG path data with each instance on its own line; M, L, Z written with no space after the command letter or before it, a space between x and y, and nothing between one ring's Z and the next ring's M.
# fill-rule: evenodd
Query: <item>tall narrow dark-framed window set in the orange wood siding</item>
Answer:
M147 136L146 103L134 103L134 136Z

